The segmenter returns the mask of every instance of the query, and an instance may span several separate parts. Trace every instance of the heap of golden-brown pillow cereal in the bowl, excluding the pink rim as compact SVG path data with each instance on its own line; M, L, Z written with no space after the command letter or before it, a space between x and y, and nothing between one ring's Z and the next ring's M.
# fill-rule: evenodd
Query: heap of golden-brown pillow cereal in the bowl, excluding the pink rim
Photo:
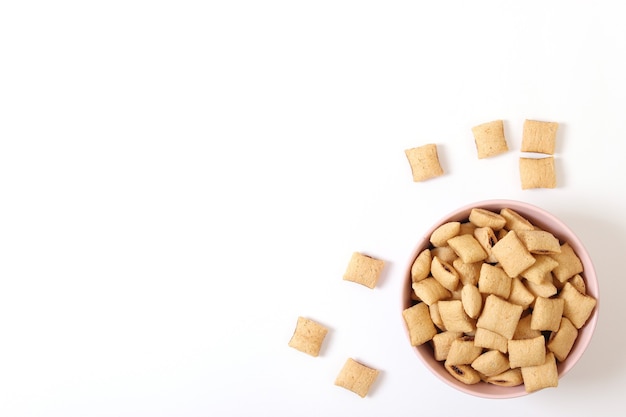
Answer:
M435 359L466 383L515 386L525 383L526 372L527 391L550 386L549 379L533 381L535 371L550 371L549 355L554 363L569 355L577 326L589 320L597 303L585 295L582 262L573 248L515 211L480 210L472 211L474 222L462 219L436 229L427 249L430 265L425 250L412 265L412 299L423 301L420 308L428 314L413 321L432 324L419 343L430 340ZM500 224L491 222L499 218Z

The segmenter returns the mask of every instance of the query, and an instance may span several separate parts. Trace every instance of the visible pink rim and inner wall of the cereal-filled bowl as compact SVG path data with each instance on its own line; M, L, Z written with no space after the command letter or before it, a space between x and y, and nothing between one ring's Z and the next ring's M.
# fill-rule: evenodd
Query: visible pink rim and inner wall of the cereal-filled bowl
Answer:
M514 200L488 200L468 204L464 207L454 210L447 216L443 217L439 222L434 224L424 233L424 237L422 237L422 239L418 242L417 247L415 248L410 258L411 261L408 264L404 276L405 284L403 286L402 292L402 310L410 307L413 304L413 301L411 300L411 266L417 255L430 245L430 235L438 226L443 223L449 221L467 220L471 209L475 207L498 212L500 211L500 209L508 207L518 212L534 225L544 230L550 231L562 242L569 242L569 244L572 246L578 257L582 261L584 272L581 275L583 276L587 286L587 294L593 296L596 300L598 300L598 303L596 304L596 307L592 312L591 317L589 317L587 323L578 331L578 338L574 343L570 354L565 359L565 361L560 362L557 365L559 378L562 378L570 369L572 369L572 367L574 367L576 362L578 362L578 360L581 358L585 349L589 345L593 332L596 328L596 324L598 321L598 307L600 305L598 299L598 278L596 276L596 272L593 267L591 258L589 257L589 254L587 253L587 250L583 246L580 239L578 239L574 232L572 232L569 227L567 227L562 221L560 221L552 214L546 212L545 210L540 209L539 207ZM408 330L406 329L406 325L404 327L408 337ZM479 382L478 384L474 385L466 385L452 377L445 370L442 362L438 362L437 360L435 360L432 347L429 343L425 343L421 346L412 348L415 350L417 356L422 360L422 362L433 374L435 374L448 385L464 393L484 398L514 398L528 394L524 388L524 385L519 385L516 387L501 387L485 382Z

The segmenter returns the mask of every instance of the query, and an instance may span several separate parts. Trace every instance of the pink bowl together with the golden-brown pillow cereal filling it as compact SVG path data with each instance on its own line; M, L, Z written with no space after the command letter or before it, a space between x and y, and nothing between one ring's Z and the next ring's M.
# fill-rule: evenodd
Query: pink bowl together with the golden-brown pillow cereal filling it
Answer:
M598 282L577 236L533 205L491 200L433 225L407 268L402 316L424 364L463 392L558 386L596 326Z

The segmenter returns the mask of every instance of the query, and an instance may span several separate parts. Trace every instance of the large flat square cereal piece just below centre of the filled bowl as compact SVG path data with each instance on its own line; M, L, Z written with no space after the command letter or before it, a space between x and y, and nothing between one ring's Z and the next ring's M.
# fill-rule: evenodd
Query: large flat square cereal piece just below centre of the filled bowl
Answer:
M523 307L509 303L497 295L489 294L485 299L483 312L478 317L476 327L491 330L511 339L522 317Z

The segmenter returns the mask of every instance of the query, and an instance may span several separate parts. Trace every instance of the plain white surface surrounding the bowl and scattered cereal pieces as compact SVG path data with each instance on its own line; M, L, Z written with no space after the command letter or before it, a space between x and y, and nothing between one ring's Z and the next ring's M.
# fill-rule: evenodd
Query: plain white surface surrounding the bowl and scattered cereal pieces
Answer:
M0 415L621 413L619 6L0 1ZM560 124L556 189L521 190L527 118ZM494 119L510 151L478 160ZM425 143L446 174L414 183ZM561 217L600 279L581 362L513 400L429 374L400 315L423 231L488 198ZM342 280L353 251L377 288ZM333 384L348 357L381 371L364 399Z

